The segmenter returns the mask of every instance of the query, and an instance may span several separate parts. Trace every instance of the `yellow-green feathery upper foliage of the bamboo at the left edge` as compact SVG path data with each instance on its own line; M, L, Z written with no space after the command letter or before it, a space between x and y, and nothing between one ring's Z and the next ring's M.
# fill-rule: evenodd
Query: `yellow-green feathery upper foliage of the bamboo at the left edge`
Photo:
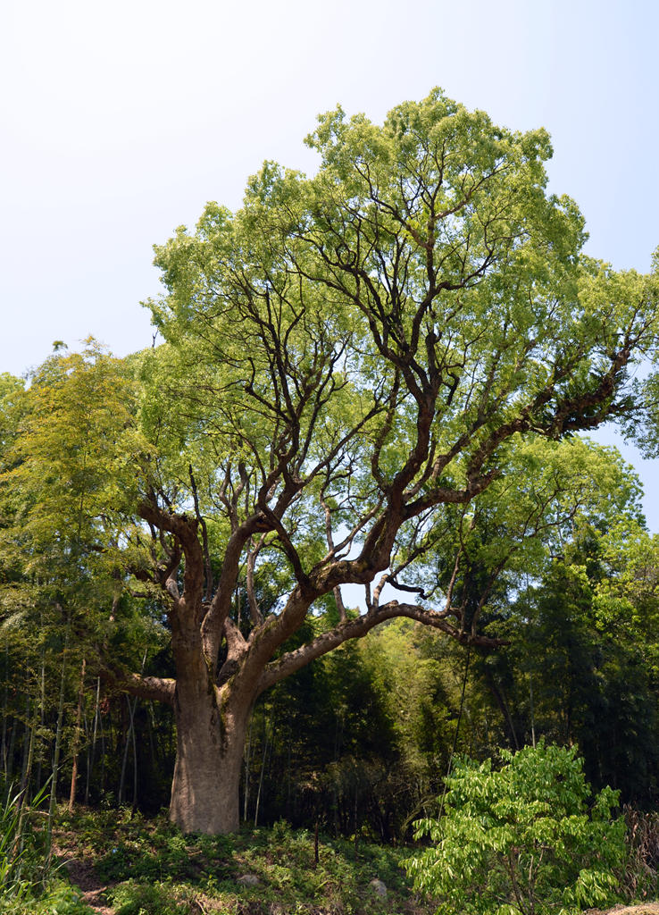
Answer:
M58 651L69 622L83 651L83 633L98 639L98 611L121 595L136 492L131 372L86 343L54 353L27 391L3 400L15 434L0 473L0 544L13 562L2 618L13 611L26 631L55 630Z

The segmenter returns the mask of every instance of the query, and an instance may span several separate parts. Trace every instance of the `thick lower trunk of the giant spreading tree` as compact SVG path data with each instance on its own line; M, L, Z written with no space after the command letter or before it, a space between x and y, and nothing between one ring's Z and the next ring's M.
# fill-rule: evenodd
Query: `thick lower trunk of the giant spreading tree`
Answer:
M176 684L176 762L169 818L185 833L226 834L239 828L240 770L250 701L220 713L202 684Z

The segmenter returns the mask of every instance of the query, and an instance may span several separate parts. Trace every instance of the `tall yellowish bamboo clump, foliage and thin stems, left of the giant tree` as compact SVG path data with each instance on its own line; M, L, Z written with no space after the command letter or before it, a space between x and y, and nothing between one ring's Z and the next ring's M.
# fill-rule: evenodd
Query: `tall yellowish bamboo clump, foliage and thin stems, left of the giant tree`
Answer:
M52 814L62 747L75 799L88 687L98 724L101 652L131 663L143 655L126 651L122 605L135 389L131 371L90 339L81 353L59 347L27 389L3 390L3 772L27 789L52 770ZM153 640L148 620L138 628L143 645ZM88 767L88 796L89 782Z

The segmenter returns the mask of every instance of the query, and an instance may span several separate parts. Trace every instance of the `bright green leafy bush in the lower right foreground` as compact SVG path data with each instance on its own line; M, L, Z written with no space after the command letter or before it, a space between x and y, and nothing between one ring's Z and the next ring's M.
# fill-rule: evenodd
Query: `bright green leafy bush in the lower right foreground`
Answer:
M603 908L615 899L625 859L625 824L611 819L618 793L605 788L590 807L576 750L525 748L502 754L494 771L456 762L444 815L417 823L432 845L406 863L416 889L440 911L527 915Z

